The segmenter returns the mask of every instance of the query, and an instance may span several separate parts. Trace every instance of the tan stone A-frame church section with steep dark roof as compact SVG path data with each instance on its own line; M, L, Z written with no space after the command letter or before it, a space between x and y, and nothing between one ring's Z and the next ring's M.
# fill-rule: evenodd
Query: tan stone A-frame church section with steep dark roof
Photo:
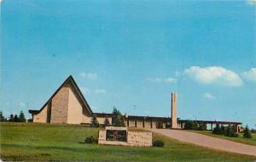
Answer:
M94 113L83 93L70 75L40 110L29 110L33 122L59 124L90 124ZM95 114L100 124L105 118L111 122L110 114Z

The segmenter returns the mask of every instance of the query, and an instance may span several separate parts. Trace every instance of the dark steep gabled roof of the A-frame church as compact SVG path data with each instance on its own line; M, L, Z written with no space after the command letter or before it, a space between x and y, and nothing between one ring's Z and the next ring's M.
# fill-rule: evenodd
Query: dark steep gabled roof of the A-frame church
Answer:
M48 100L46 103L44 103L44 106L43 106L40 110L32 110L32 109L29 109L28 112L31 113L32 115L37 115L38 113L40 113L40 112L44 109L44 107L51 101L51 99L55 97L55 94L57 94L57 92L59 92L59 91L61 90L61 88L64 87L64 86L67 84L68 81L70 81L70 83L73 85L75 91L78 92L79 98L80 98L80 100L82 101L82 103L84 104L84 107L88 110L88 112L90 113L90 115L93 115L93 112L91 111L89 104L86 102L83 93L82 93L81 90L79 89L79 87L78 87L76 81L74 81L72 75L69 75L69 76L67 77L66 81L64 81L64 82L61 84L61 87L59 87L59 88L54 92L54 94L49 98L49 100Z

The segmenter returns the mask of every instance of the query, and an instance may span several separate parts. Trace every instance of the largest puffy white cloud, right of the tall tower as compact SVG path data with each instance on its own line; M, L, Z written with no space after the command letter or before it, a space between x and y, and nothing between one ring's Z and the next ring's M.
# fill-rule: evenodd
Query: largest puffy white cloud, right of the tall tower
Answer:
M188 75L191 79L205 85L226 87L240 87L242 85L239 75L232 70L227 70L219 66L205 68L191 66L189 69L184 70L184 75Z

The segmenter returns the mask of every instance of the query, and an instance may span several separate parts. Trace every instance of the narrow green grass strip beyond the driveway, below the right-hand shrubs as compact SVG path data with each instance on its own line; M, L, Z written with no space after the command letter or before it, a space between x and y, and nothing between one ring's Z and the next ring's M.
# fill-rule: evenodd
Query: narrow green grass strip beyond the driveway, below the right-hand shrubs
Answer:
M212 134L212 131L193 131L193 132L201 133L201 134L211 136L211 137L219 137L219 138L227 139L227 140L234 141L234 142L241 142L241 143L256 146L256 133L252 133L252 138L244 138L242 136L242 133L239 133L239 137L225 137L224 135Z

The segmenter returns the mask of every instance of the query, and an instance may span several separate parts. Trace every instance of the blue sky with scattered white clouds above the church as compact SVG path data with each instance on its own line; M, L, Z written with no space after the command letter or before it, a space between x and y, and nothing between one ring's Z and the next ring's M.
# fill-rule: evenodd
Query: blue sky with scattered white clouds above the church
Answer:
M256 125L249 1L3 0L4 115L40 109L68 75L91 108Z

